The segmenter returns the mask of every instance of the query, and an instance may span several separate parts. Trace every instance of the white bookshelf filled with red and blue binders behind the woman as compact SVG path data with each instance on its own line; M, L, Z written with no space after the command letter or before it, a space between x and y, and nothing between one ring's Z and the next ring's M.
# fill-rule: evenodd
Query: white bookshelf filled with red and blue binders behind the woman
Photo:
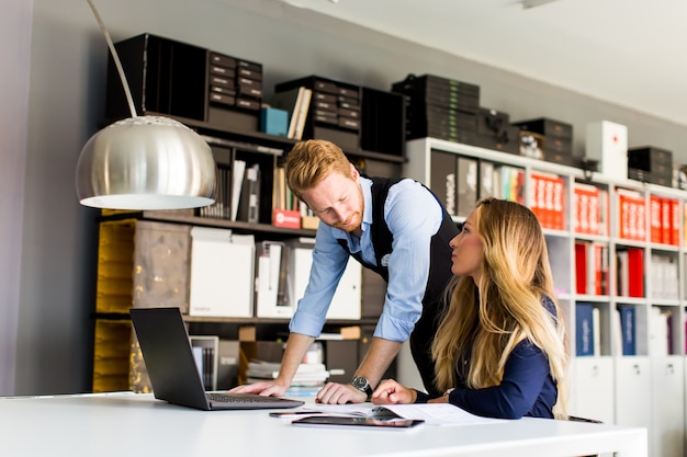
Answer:
M489 193L532 208L567 322L571 413L646 426L652 455L683 456L687 192L435 138L408 141L406 155L404 175L444 202L448 192L449 206L455 192L457 220ZM454 164L465 161L480 176L468 191L459 184L470 183L465 168ZM484 187L485 172L506 169L518 170L510 187L503 172Z

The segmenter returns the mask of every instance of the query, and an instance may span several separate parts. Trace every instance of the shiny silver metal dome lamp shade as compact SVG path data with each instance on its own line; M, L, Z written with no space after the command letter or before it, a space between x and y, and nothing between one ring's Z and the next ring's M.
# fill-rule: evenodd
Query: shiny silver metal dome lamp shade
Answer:
M79 156L79 202L111 209L180 209L214 203L216 165L195 132L168 117L135 116L93 135Z

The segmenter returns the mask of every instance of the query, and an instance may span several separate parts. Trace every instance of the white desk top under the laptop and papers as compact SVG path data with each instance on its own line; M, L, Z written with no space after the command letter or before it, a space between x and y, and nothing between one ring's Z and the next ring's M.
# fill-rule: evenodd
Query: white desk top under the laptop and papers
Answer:
M307 401L312 401L308 399ZM0 398L1 456L647 455L645 429L522 419L414 430L296 427L262 411L196 411L150 395Z

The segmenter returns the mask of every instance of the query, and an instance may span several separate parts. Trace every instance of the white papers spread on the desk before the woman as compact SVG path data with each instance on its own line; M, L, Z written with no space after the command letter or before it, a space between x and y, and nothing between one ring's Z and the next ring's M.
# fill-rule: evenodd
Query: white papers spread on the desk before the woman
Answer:
M384 404L372 403L317 404L307 409L330 414L374 415L375 409L385 408L405 419L421 419L428 425L474 425L504 422L505 419L471 414L450 403Z

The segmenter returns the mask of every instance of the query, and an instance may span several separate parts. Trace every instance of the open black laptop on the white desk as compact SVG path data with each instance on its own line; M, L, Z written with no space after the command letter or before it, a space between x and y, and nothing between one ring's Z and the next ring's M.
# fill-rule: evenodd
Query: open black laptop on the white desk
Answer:
M206 392L179 308L132 308L129 315L158 400L206 411L295 408L304 403L257 393Z

